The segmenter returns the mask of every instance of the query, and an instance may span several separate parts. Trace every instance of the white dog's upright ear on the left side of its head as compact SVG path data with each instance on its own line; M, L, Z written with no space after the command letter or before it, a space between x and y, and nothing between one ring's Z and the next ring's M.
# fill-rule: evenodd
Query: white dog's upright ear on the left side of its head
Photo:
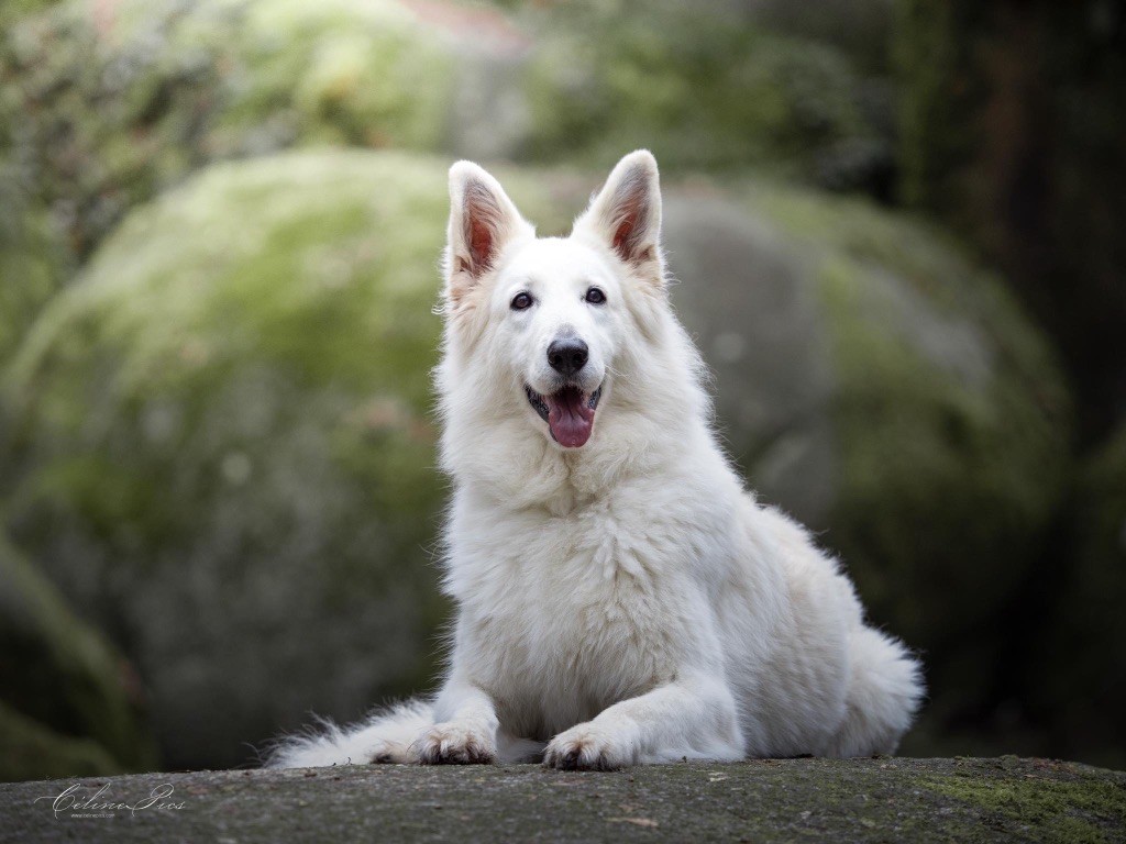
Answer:
M449 230L446 295L457 305L497 266L501 250L517 237L535 236L508 194L472 161L449 169Z

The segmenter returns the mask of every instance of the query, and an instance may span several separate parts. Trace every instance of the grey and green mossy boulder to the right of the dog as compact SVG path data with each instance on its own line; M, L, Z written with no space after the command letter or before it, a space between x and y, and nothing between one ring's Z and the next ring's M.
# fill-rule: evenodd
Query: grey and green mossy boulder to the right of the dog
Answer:
M956 243L865 201L697 182L670 194L667 226L673 298L751 485L922 652L915 747L935 749L936 725L990 719L1027 632L1000 619L1046 562L1067 483L1048 344Z

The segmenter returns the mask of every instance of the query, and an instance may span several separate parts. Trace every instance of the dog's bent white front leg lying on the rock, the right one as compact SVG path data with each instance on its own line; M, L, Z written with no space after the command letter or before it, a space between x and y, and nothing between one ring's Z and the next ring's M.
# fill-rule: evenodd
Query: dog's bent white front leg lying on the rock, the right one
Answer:
M686 756L743 757L735 700L714 677L688 675L608 707L593 720L555 736L544 752L544 764L566 771L613 771Z

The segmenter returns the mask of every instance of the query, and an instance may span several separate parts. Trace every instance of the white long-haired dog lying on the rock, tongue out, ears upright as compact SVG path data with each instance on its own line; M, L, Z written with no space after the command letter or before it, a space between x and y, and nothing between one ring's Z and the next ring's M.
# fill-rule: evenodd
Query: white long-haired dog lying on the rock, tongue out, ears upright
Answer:
M449 192L448 675L272 764L894 752L919 664L716 443L669 304L653 156L624 158L565 239L537 239L470 162Z

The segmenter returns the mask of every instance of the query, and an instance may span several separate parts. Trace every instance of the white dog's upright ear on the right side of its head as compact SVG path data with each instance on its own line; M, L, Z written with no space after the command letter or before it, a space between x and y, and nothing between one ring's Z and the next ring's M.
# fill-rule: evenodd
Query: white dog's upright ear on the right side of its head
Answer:
M595 237L638 275L664 286L661 182L649 150L632 152L617 163L573 232Z

